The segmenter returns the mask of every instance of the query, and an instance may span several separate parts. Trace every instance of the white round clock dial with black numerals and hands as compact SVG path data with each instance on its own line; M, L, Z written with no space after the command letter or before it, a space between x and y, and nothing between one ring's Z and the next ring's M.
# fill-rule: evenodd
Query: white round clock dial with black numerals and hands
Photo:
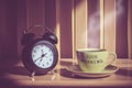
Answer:
M53 65L53 52L46 45L36 45L32 50L32 58L36 66L48 68Z

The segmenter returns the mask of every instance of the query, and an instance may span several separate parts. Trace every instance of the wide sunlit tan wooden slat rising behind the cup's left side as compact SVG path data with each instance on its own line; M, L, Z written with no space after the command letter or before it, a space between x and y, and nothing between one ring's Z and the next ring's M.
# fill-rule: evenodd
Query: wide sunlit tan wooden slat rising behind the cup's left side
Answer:
M76 50L87 47L87 0L75 0Z

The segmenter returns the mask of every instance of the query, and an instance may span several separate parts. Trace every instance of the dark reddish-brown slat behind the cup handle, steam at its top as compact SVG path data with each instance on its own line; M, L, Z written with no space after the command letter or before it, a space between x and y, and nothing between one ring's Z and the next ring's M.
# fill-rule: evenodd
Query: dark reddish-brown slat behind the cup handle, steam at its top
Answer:
M116 0L117 6L120 0ZM122 8L121 8L122 7ZM120 9L122 12L119 13ZM116 11L117 41L116 51L118 57L128 58L128 0L120 2L120 8Z

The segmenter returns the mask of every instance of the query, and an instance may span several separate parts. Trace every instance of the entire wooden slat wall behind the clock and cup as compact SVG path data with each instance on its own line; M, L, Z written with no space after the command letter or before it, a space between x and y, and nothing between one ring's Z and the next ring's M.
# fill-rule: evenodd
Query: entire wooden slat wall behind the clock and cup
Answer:
M120 1L118 14L118 0L1 0L0 56L20 57L22 31L41 24L56 33L59 57L76 58L77 48L98 47L132 58L132 1Z

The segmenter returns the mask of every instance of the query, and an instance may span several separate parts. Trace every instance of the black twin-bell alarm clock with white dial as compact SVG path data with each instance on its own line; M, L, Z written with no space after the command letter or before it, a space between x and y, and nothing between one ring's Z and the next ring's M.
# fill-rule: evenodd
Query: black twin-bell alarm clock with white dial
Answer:
M35 25L41 26L41 25ZM55 46L57 44L56 35L47 28L41 37L28 30L23 31L22 45L22 63L24 67L35 74L47 74L58 62L58 52ZM33 30L33 28L32 28Z

